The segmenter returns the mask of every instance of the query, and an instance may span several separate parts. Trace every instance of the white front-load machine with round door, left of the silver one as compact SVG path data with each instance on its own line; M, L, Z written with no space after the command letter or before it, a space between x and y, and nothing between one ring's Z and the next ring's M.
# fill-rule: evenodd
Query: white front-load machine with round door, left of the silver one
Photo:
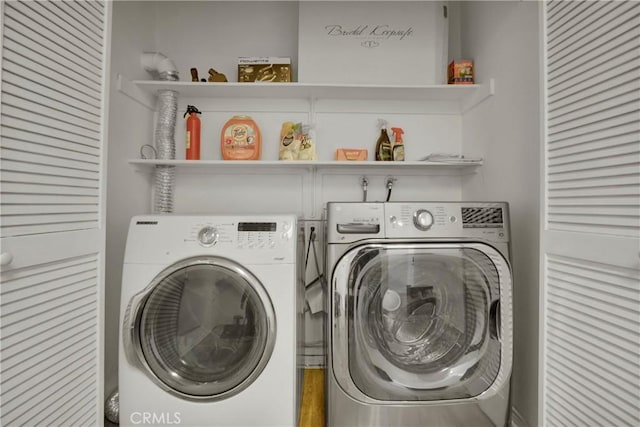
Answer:
M296 244L293 215L131 220L120 425L296 424Z

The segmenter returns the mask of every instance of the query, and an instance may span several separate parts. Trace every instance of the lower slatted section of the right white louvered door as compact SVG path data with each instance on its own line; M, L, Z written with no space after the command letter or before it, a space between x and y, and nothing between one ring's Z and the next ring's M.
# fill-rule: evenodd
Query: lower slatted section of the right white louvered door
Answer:
M638 425L640 274L547 262L547 411L562 425Z

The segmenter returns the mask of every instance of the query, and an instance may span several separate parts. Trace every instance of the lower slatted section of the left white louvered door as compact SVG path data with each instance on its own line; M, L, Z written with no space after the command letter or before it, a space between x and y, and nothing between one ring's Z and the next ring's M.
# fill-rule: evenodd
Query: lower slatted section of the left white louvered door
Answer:
M3 425L58 420L59 399L77 386L97 388L96 262L84 256L3 274ZM92 373L84 383L68 381L82 371Z

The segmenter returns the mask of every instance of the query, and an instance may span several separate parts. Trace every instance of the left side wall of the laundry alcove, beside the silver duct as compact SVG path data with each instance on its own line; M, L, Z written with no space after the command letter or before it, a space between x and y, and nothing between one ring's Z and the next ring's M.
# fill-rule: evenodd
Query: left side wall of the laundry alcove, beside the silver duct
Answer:
M105 288L105 397L118 386L118 317L122 260L131 216L148 212L150 177L129 167L140 146L152 143L153 112L118 92L118 74L148 78L140 52L153 50L154 5L151 2L113 4L109 153L107 160L107 252Z

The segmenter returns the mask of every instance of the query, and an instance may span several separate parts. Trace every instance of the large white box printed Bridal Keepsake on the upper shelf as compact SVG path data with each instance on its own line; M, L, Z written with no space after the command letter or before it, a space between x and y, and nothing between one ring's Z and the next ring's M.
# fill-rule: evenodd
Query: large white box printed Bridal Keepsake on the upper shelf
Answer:
M298 81L446 84L440 1L299 2Z

